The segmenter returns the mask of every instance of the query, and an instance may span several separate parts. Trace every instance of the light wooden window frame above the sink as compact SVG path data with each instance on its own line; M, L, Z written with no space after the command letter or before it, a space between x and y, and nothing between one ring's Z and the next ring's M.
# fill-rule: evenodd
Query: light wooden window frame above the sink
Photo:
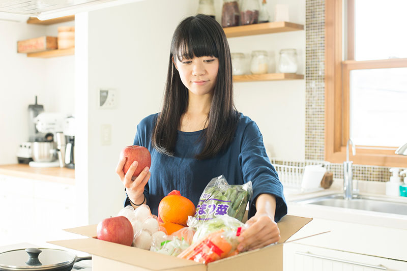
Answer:
M347 1L347 60L342 57L342 1ZM351 70L407 67L407 58L355 61L354 2L325 0L325 160L346 160L349 138L349 74ZM391 132L391 131L389 131ZM407 138L406 138L407 141ZM394 154L396 147L356 146L350 152L354 164L406 167L407 157Z

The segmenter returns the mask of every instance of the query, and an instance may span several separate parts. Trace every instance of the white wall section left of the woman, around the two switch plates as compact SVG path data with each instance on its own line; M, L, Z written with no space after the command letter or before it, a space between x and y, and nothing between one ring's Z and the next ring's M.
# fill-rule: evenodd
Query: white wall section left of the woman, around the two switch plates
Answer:
M86 45L76 37L76 51L82 51L79 46L88 51L86 65L76 65L75 71L76 80L88 73L75 87L76 102L88 99L87 108L75 106L82 128L88 123L76 137L83 146L76 149L82 161L76 164L76 182L88 190L87 196L77 198L78 206L89 209L89 216L79 214L78 224L97 223L123 207L124 188L114 172L120 151L133 143L138 122L160 110L172 33L183 17L197 9L197 3L190 0L179 2L177 8L161 0L93 11L82 25L77 17L76 31L85 25L89 34ZM97 108L100 87L117 89L117 109ZM78 89L86 88L87 93L82 93L86 97L79 97ZM102 146L100 128L106 124L111 126L111 145Z

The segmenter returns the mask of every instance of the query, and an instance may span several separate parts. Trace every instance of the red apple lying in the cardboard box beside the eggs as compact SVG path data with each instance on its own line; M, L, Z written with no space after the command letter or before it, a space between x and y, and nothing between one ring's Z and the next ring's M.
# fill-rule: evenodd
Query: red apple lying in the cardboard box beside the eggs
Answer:
M123 216L106 218L96 228L98 239L131 246L133 243L133 226Z

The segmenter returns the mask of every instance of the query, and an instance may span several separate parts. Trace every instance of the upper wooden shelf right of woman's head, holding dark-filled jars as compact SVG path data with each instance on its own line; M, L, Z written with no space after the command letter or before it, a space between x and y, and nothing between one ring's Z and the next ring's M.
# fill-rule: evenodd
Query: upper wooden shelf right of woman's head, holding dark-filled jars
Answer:
M225 27L223 28L223 31L225 32L227 38L234 38L260 34L299 31L303 29L304 25L302 24L280 21Z

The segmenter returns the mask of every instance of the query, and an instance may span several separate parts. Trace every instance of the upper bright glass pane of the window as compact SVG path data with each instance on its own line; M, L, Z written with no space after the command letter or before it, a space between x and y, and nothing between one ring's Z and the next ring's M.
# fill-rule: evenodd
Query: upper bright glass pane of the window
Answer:
M406 11L406 0L355 0L355 60L407 57Z

